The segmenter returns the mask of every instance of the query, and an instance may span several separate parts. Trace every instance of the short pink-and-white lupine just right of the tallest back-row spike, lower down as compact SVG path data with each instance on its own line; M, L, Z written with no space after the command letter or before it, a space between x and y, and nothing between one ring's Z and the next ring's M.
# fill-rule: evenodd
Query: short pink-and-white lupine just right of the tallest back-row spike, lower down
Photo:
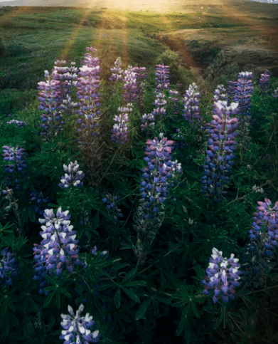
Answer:
M118 111L119 116L116 115L113 118L115 124L111 130L111 140L116 144L121 142L121 144L124 145L124 143L129 140L129 127L127 126L127 123L129 123L129 113L132 112L132 103L127 104L127 108L118 108Z

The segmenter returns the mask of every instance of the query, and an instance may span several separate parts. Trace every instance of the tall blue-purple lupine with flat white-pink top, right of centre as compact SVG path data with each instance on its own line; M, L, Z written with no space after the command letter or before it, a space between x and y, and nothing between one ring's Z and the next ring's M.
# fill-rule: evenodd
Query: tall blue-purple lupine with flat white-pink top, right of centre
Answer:
M224 100L215 103L216 115L210 124L210 139L205 158L205 173L202 177L203 194L212 196L215 202L219 201L218 195L223 194L223 182L228 182L225 175L231 170L233 164L232 151L235 150L235 132L237 128L237 118L230 118L230 115L237 114L237 103L227 106Z

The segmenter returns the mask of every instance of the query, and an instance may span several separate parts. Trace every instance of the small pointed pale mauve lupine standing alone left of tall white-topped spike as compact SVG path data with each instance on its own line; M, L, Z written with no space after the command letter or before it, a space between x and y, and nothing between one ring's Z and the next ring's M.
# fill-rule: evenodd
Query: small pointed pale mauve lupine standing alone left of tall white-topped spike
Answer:
M184 110L183 110L183 118L185 120L189 120L190 123L193 123L194 120L197 120L197 122L201 121L200 117L200 108L199 108L199 101L198 98L200 98L200 93L196 92L198 89L198 86L196 83L192 83L189 85L188 90L186 90L186 93L183 98L184 103Z

